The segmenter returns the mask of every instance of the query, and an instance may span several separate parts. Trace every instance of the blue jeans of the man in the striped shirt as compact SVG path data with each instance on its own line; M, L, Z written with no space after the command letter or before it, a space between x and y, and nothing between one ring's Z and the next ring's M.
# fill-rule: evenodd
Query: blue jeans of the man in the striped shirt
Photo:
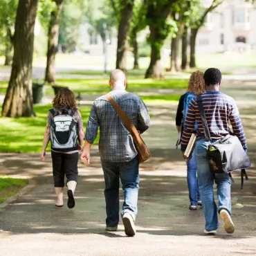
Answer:
M207 149L210 142L205 139L196 141L196 165L199 189L205 215L205 230L219 228L218 210L214 201L213 184L217 184L219 211L226 209L231 214L231 181L228 174L214 174L210 170Z

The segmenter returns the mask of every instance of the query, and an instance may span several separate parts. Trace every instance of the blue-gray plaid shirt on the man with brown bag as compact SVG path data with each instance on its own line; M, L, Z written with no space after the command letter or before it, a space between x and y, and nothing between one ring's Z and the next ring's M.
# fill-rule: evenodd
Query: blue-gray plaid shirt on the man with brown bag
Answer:
M149 112L143 100L121 88L113 89L110 95L129 116L140 134L149 128ZM90 144L93 144L98 134L98 127L100 127L99 149L102 161L121 163L131 161L137 156L131 134L105 96L95 100L91 108L84 136Z

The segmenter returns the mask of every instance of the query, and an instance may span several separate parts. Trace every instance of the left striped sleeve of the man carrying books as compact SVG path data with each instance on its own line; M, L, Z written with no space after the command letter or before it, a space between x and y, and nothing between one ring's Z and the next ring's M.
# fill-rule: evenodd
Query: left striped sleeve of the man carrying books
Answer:
M193 98L188 106L188 115L185 119L184 130L181 137L181 151L183 152L185 152L185 149L190 142L190 137L194 132L194 123L196 122L195 104L196 102Z

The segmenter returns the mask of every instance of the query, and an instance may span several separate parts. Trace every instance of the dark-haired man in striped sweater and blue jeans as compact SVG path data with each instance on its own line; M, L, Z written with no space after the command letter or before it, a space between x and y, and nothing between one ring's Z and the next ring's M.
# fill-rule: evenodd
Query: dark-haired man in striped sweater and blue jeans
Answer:
M203 109L208 121L210 136L212 141L205 139L205 132L199 113L196 97L193 98L188 107L188 115L185 120L185 129L181 140L181 150L183 153L188 145L190 136L194 132L194 125L197 122L198 129L196 140L196 167L199 180L199 188L205 214L205 234L214 234L219 228L218 212L223 219L224 229L228 233L235 231L234 223L231 219L231 181L228 174L217 174L210 170L207 156L207 149L211 143L229 134L228 122L230 121L234 134L241 141L241 145L247 152L246 135L241 123L237 104L228 95L219 91L221 85L221 71L217 68L209 68L205 71L206 91L202 94ZM184 156L185 157L185 156ZM217 184L217 196L219 199L219 210L214 201L213 184Z

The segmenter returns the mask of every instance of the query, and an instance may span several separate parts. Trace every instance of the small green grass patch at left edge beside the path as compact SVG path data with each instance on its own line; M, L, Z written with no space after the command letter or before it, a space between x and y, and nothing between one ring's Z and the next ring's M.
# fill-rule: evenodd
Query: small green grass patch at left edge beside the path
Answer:
M9 196L13 196L21 188L28 184L25 179L12 179L0 177L0 203L6 200Z

